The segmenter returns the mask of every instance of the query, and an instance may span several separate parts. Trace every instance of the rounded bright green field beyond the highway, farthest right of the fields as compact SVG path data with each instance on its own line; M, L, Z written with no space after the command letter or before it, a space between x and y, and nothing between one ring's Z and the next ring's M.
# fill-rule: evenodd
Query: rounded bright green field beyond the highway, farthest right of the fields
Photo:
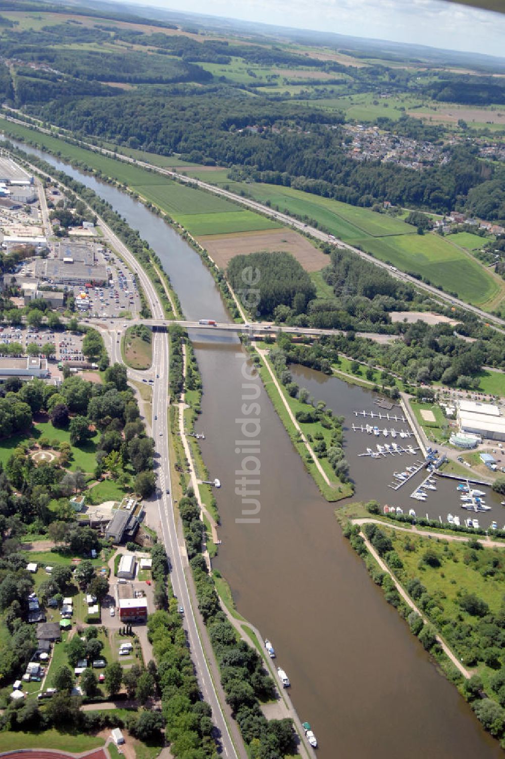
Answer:
M439 235L396 235L361 238L364 250L407 272L426 277L433 285L457 292L463 301L485 307L504 291L488 269Z

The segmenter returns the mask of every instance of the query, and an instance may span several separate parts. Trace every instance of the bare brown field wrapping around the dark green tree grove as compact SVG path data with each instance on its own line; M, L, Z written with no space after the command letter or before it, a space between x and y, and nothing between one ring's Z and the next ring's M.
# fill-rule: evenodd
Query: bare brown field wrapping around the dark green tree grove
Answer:
M289 229L238 232L236 235L204 235L198 238L216 264L226 269L228 262L240 254L260 250L291 253L308 272L317 272L330 263L330 257L314 247L303 235Z

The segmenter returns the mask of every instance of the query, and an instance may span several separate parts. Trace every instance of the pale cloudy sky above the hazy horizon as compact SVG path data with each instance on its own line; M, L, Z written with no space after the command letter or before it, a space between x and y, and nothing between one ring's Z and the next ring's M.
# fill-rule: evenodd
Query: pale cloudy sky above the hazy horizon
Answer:
M137 5L505 57L505 15L442 0L133 0Z

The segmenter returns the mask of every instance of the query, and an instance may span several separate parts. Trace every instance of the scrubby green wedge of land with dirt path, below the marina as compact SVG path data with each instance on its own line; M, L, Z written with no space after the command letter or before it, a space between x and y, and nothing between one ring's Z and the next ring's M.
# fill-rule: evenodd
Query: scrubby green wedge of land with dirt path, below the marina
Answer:
M502 614L505 560L497 556L498 546L475 537L387 525L375 516L356 518L356 507L364 509L352 504L339 509L336 517L372 580L469 701L484 728L505 739L500 691L505 667L500 638L488 629L500 628ZM491 576L487 567L494 567ZM481 700L484 693L487 701Z

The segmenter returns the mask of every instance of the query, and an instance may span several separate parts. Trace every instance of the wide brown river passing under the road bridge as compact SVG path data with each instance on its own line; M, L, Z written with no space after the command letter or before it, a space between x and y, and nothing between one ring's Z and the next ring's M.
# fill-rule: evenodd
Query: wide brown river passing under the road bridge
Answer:
M161 219L115 187L19 146L91 187L140 231L162 260L189 319L225 317L219 291L200 258ZM234 492L235 470L244 457L235 442L243 439L236 420L247 414L242 404L251 403L242 395L252 394L242 389L248 383L242 373L245 358L235 338L208 332L191 337L204 383L199 420L206 434L204 459L223 485L217 493L223 545L213 563L229 581L238 611L273 641L277 662L291 679L298 714L312 723L320 741L318 756L502 756L371 582L342 537L334 506L320 497L262 387L257 391L256 438L260 521L237 521L243 505ZM336 384L338 407L351 402L370 406L366 391L353 388L352 401L347 391L344 383ZM343 413L342 408L336 411ZM368 466L356 466L350 458L358 495L373 495Z

